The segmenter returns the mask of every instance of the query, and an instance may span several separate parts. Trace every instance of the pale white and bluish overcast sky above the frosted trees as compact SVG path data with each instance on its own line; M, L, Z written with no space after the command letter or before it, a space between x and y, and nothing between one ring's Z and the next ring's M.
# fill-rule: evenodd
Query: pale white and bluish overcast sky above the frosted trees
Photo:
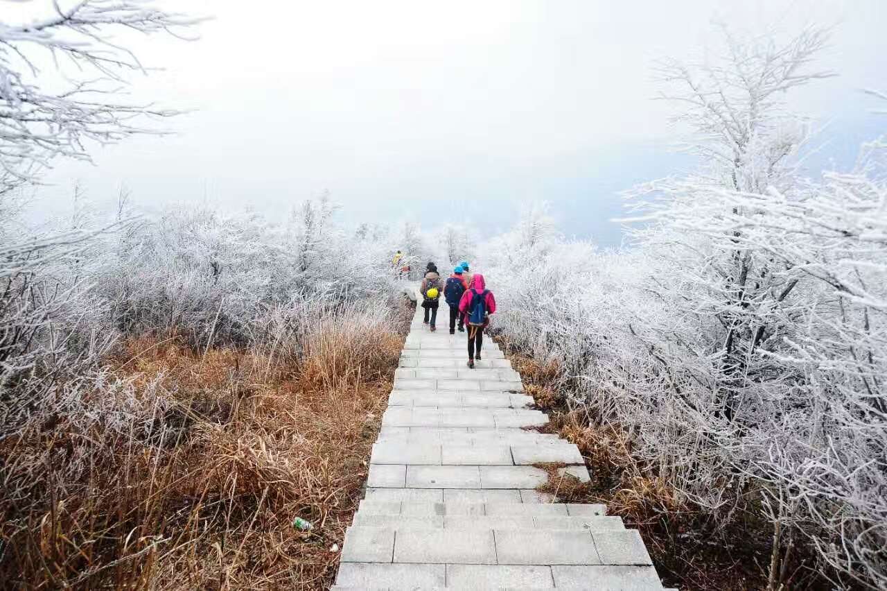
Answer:
M887 127L860 94L887 87L885 0L169 5L215 19L193 43L139 42L165 70L135 77L132 94L194 111L169 121L174 136L96 149L94 166L57 162L43 213L64 209L75 181L97 204L125 184L147 209L207 200L278 215L329 191L351 220L484 216L487 228L545 199L569 233L613 243L616 193L687 164L668 152L671 107L652 100L650 67L700 55L713 21L836 25L821 63L840 76L793 103L830 122L839 159L842 141Z

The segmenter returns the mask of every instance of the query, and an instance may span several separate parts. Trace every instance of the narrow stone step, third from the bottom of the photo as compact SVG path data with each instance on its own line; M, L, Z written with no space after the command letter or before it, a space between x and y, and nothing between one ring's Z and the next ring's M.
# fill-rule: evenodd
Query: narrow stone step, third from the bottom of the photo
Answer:
M354 525L385 529L439 529L459 530L588 530L609 532L624 530L622 518L617 516L404 516L362 513L354 516Z

